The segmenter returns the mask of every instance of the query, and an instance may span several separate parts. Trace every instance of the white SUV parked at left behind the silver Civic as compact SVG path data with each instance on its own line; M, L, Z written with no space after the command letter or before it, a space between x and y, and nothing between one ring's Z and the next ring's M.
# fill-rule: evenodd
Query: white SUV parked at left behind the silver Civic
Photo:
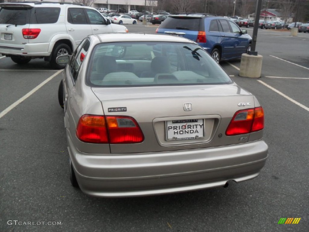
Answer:
M59 55L71 54L90 34L128 32L92 7L73 3L0 4L0 54L18 64L44 58L56 69Z

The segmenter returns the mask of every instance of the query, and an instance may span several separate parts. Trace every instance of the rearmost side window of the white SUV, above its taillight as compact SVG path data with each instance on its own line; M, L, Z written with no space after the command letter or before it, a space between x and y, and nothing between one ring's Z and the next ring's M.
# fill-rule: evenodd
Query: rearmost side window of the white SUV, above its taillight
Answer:
M31 11L31 24L54 24L60 15L59 7L35 7Z

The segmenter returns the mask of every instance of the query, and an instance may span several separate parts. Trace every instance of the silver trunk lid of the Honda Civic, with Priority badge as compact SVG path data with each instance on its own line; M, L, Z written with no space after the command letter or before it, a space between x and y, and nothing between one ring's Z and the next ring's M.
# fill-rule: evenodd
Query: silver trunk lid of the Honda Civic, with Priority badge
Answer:
M172 151L247 141L225 135L236 111L254 107L253 96L236 84L92 90L102 102L105 115L134 118L145 137L142 143L110 144L111 153Z

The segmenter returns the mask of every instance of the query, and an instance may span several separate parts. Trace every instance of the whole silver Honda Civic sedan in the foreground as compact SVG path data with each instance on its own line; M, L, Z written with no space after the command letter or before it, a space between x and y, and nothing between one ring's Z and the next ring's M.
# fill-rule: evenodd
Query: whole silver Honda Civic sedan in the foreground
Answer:
M268 157L264 112L197 43L162 34L86 37L59 85L74 187L100 197L227 186Z

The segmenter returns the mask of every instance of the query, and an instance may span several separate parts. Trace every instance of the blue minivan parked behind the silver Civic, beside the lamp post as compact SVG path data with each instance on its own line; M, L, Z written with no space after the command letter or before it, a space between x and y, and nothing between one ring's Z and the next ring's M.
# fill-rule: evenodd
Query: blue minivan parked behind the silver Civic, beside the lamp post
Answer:
M252 37L232 20L214 15L184 13L169 15L157 33L182 36L201 45L216 62L240 58L251 50Z

